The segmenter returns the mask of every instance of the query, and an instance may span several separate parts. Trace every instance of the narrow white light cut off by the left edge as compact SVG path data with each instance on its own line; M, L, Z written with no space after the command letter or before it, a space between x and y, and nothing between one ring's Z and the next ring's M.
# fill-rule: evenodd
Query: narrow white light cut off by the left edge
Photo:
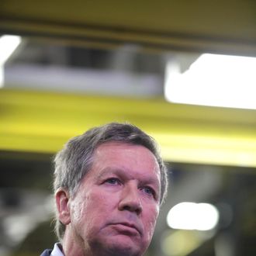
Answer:
M0 87L4 84L4 64L19 46L19 43L21 43L20 36L4 35L0 37Z

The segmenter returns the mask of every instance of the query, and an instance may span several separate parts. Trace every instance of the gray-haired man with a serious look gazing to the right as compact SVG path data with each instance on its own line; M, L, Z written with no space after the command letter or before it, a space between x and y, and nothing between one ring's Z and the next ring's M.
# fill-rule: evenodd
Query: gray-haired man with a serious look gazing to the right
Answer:
M109 123L69 140L55 157L54 250L41 256L140 256L168 187L154 140Z

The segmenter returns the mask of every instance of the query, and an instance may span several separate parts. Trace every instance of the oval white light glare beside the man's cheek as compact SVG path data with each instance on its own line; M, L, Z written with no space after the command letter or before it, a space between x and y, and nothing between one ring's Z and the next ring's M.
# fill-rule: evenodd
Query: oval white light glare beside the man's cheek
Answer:
M167 216L168 226L179 230L213 230L219 221L219 212L209 203L180 202Z

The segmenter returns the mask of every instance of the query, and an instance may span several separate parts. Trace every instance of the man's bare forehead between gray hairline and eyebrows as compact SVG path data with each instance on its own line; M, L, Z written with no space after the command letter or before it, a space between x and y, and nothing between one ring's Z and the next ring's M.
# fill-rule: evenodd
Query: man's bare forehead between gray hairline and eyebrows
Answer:
M96 148L93 155L92 169L102 171L116 168L127 173L160 176L160 168L154 154L141 145L108 142Z

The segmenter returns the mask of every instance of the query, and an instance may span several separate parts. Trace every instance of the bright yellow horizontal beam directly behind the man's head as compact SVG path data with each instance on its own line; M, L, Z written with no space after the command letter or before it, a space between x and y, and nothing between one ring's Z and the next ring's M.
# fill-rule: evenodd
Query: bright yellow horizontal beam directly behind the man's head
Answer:
M256 167L256 110L0 91L0 150L54 153L68 138L112 121L150 133L166 161Z

